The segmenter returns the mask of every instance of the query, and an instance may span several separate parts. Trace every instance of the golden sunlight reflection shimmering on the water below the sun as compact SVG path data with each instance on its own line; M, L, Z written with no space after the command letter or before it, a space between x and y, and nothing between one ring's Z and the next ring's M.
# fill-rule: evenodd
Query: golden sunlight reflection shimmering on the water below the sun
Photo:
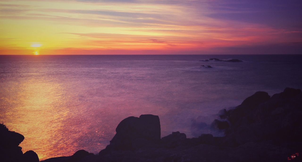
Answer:
M57 141L55 132L62 129L62 121L68 113L64 108L64 94L58 83L41 79L28 79L14 85L14 92L5 101L13 103L9 107L5 118L11 130L21 133L25 139L20 144L23 153L34 150L40 160L54 157L66 151L59 148L66 147L64 141ZM53 145L57 146L53 148Z

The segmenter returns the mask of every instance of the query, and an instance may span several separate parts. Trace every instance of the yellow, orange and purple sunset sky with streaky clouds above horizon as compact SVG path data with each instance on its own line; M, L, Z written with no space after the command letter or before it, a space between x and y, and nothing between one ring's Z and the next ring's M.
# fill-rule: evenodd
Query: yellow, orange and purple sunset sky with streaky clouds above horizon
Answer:
M0 0L0 54L302 54L301 8L301 0Z

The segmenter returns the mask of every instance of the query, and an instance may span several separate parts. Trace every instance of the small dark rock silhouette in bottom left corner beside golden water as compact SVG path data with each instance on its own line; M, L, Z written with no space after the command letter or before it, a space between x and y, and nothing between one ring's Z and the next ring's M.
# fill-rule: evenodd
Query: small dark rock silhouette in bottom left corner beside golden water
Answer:
M0 160L3 162L36 162L38 155L34 151L27 151L23 154L19 144L24 140L21 134L9 131L0 123Z

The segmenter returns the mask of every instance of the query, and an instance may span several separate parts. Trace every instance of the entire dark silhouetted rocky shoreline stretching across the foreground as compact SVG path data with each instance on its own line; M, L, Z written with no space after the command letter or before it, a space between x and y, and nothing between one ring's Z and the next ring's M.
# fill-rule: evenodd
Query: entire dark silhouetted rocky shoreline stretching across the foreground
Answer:
M235 109L220 111L211 128L224 132L224 137L201 134L188 139L184 133L172 132L160 138L159 117L141 115L122 120L110 145L98 155L79 150L72 156L54 157L44 162L288 161L292 154L302 156L301 126L300 89L286 88L272 97L266 92L256 92ZM31 156L25 156L18 147L24 137L15 136L5 140L6 135L2 135L1 130L1 156L6 161L12 161L10 158L35 161L33 151L28 153ZM14 154L16 156L11 156ZM291 161L302 160L295 155Z

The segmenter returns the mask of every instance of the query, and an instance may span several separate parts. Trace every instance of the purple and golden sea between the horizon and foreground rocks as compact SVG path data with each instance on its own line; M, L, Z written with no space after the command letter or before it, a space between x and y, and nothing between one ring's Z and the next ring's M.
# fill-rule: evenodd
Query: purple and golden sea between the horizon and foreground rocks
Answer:
M193 137L192 119L285 87L302 88L302 55L0 55L0 122L40 159L98 153L126 117Z

